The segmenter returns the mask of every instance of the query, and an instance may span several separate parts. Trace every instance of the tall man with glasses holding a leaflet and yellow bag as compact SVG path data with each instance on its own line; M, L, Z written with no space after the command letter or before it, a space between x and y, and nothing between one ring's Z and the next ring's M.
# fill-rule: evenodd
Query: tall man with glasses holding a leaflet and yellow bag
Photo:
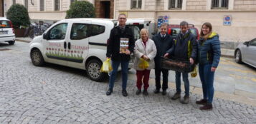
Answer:
M118 16L119 26L114 27L110 31L110 38L107 47L107 58L111 58L113 71L110 73L109 89L106 95L111 95L115 83L115 76L118 71L118 66L121 63L122 68L122 94L127 96L126 91L127 78L128 78L128 64L130 55L133 53L134 38L133 32L130 28L125 26L126 15L120 14Z

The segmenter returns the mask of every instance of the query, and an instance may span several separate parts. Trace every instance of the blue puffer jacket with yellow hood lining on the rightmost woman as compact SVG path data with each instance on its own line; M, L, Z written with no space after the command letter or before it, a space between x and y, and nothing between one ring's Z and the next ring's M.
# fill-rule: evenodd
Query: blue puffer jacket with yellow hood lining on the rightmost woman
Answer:
M207 40L200 38L198 48L199 64L212 64L212 67L217 68L221 55L219 35L212 32Z

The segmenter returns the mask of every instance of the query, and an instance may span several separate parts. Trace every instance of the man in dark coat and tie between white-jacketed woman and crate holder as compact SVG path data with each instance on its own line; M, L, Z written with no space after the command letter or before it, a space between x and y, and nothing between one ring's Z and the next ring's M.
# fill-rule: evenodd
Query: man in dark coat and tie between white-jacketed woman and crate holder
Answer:
M161 88L161 72L163 73L163 86L162 86L162 94L166 95L166 89L168 88L168 75L169 71L161 68L161 57L166 53L166 51L171 48L174 41L173 38L167 33L167 24L161 24L160 33L153 36L153 41L156 44L156 57L155 61L155 75L156 75L156 90L154 93L159 93Z

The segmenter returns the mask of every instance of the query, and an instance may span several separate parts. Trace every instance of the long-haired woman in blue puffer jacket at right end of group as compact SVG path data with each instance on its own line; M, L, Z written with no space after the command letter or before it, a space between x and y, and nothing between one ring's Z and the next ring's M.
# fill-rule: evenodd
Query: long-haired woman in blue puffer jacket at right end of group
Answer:
M219 35L212 32L212 24L209 22L202 25L198 44L199 76L202 82L204 98L196 101L196 104L204 105L200 110L212 110L214 72L219 64L220 43Z

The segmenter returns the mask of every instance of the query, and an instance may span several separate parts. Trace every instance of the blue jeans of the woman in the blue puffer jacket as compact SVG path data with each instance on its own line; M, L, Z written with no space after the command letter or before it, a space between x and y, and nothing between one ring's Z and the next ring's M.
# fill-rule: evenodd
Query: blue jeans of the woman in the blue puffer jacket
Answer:
M214 71L211 71L212 64L199 64L199 76L202 82L204 99L212 103L214 97Z

